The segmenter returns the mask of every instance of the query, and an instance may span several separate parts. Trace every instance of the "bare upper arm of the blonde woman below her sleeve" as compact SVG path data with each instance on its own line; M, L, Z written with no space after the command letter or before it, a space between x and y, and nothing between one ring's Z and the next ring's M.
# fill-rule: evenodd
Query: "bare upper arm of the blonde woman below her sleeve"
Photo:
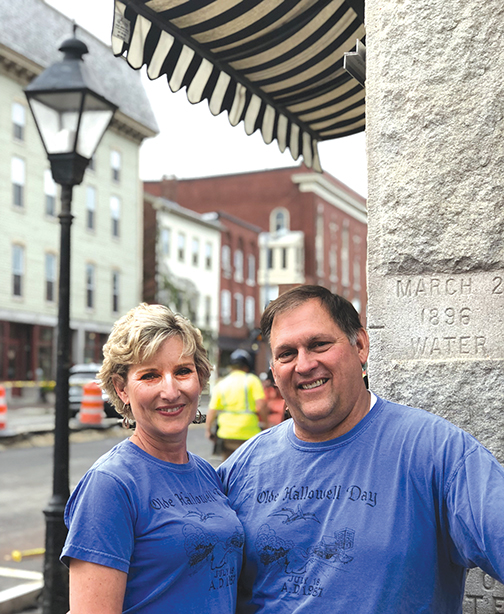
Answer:
M127 577L112 567L70 559L71 613L121 614Z

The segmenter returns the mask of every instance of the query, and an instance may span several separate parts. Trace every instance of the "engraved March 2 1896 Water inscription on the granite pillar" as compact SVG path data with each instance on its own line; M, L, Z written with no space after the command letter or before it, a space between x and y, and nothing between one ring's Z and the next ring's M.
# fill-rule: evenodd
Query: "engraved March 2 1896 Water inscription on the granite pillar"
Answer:
M388 280L385 335L406 360L502 358L490 333L504 320L504 273Z

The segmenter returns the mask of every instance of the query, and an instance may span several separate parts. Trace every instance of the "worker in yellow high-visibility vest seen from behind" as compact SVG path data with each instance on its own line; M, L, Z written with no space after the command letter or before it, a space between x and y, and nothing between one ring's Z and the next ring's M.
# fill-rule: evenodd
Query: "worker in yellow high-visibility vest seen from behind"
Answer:
M261 432L267 423L266 400L261 380L250 373L252 357L246 350L230 356L231 373L215 386L210 397L206 434L212 437L217 418L217 437L225 460L242 443Z

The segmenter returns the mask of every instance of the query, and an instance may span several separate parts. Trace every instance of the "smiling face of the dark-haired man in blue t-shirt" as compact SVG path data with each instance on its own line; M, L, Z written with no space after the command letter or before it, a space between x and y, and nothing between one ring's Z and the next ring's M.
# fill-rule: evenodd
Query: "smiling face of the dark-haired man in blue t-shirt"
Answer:
M304 441L327 441L352 429L369 410L362 365L369 351L361 329L357 343L318 299L275 316L271 369Z

